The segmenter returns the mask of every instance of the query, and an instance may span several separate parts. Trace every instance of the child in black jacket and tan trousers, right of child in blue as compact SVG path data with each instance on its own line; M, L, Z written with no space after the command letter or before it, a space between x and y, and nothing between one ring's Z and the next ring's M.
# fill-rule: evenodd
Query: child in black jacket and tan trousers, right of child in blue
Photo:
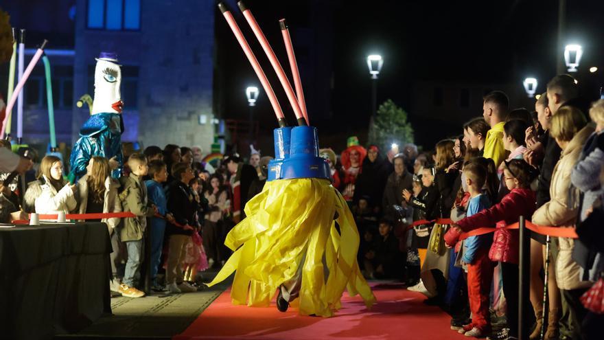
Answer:
M166 229L170 235L166 284L170 293L191 293L197 291L197 288L185 282L182 264L185 261L187 242L199 227L196 221L198 203L189 188L189 182L195 174L189 163L178 162L172 166L172 176L175 181L170 183L167 190L167 208L174 215L174 223L168 223Z

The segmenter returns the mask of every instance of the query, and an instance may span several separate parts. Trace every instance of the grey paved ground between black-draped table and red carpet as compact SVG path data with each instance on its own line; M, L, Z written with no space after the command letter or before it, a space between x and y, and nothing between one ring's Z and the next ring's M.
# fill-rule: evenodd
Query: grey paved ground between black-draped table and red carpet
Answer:
M113 297L113 315L102 317L81 332L58 335L54 339L172 339L230 285L231 280L226 280L197 293L151 295L138 299Z

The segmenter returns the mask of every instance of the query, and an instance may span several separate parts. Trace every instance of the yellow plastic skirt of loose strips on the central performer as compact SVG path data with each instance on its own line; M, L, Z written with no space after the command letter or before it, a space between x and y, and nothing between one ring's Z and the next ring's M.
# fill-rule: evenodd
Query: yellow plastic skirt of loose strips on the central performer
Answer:
M359 235L354 218L329 181L266 182L264 190L248 201L245 212L247 217L224 242L235 253L208 284L213 286L236 271L233 304L268 306L277 288L296 275L302 261L301 315L331 317L340 308L345 288L351 296L359 294L368 308L375 303L356 260Z

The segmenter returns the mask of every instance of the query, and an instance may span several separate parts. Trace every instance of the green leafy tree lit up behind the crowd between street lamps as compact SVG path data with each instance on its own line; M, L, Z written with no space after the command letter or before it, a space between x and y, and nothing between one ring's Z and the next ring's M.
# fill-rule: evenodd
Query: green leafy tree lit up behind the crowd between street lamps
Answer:
M369 144L388 150L392 143L413 143L413 127L407 122L407 113L388 99L377 109L377 117L369 126Z

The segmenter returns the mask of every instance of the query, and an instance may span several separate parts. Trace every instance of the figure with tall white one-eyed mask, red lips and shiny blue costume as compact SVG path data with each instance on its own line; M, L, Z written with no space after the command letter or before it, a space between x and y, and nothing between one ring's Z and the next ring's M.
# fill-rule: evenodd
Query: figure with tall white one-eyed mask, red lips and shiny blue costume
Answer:
M86 174L86 166L93 156L107 159L116 157L119 166L111 176L119 178L124 165L121 153L121 133L124 132L124 121L121 118L121 65L117 55L101 52L96 58L95 95L91 116L80 129L80 139L71 151L70 180L77 181Z

